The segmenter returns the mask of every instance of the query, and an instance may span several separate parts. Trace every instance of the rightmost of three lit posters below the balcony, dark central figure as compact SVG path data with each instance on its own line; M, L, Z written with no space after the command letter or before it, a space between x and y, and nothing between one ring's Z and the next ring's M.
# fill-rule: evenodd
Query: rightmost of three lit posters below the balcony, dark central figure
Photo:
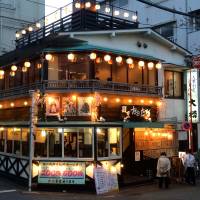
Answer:
M91 105L92 105L92 101L90 97L79 97L78 98L78 115L90 116Z

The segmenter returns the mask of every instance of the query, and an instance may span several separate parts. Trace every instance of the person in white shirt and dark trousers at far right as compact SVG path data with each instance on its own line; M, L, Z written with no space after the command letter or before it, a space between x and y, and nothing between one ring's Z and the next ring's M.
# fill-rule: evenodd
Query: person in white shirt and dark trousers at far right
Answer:
M186 152L186 156L184 158L184 167L185 167L185 178L186 182L188 184L196 185L196 179L195 179L195 157L192 154L192 150L189 149Z

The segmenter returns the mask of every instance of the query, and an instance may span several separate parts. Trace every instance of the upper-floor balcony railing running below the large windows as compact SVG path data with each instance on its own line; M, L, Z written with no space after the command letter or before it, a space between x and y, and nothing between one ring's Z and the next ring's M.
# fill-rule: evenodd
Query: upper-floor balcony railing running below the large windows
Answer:
M28 86L20 86L9 90L1 90L0 98L28 95L29 90L42 91L85 91L85 92L105 92L110 94L128 94L141 96L162 96L162 87L147 86L128 83L115 83L112 81L100 80L60 80L44 81Z

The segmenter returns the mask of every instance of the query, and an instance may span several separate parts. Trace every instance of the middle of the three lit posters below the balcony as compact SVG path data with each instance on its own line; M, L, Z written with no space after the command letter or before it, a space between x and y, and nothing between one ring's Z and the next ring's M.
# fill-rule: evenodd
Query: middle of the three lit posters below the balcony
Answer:
M63 116L76 116L77 115L76 99L73 99L73 97L63 97L62 110L63 110Z

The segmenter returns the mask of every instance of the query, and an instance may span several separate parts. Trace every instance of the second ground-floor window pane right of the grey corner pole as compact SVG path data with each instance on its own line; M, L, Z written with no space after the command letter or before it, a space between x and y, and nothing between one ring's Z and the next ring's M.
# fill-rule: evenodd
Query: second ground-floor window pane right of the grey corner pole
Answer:
M49 157L62 157L62 129L48 130Z

